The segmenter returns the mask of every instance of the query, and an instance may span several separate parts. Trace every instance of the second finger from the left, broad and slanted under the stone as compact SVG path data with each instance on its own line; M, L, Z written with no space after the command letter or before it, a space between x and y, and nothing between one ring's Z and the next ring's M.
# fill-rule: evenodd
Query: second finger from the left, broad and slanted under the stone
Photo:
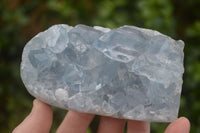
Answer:
M93 114L68 111L57 133L85 133L93 118Z

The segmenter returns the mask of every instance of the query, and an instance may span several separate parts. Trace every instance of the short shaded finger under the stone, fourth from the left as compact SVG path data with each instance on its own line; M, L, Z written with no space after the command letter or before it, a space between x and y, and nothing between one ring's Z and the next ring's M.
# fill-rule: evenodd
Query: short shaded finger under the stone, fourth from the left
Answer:
M128 120L127 133L150 133L150 123L145 121Z

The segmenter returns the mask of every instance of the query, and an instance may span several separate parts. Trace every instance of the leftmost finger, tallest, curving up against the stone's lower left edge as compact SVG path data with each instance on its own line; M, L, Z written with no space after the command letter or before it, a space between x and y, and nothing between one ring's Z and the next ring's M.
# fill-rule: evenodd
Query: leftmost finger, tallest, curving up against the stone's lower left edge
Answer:
M13 130L13 133L49 133L52 119L51 107L35 99L31 113Z

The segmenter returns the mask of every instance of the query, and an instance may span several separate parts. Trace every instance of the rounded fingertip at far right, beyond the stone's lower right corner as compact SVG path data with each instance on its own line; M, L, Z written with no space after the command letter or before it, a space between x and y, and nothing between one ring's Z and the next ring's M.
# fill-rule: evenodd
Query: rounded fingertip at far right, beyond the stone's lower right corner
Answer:
M190 132L190 122L185 117L181 117L178 120L175 120L165 130L165 133L189 133L189 132Z

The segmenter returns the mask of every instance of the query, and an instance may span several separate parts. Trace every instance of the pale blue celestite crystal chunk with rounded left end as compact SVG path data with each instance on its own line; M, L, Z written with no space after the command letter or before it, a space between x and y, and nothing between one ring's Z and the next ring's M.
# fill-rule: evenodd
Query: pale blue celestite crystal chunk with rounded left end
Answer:
M25 46L27 90L60 108L152 122L177 118L183 41L135 26L60 24Z

